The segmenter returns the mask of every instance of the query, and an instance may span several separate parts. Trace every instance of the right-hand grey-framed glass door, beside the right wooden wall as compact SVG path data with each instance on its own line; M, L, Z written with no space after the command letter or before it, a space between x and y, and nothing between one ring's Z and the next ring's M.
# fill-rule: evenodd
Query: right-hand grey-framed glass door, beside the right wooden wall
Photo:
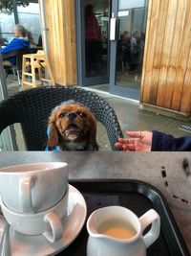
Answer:
M110 92L139 99L148 0L113 0Z

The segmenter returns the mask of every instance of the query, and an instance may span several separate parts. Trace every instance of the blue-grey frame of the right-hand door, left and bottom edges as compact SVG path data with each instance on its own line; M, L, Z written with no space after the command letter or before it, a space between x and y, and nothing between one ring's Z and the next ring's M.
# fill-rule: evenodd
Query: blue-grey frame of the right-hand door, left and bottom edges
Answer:
M140 89L133 89L128 87L121 87L116 84L116 62L117 62L117 38L119 19L117 18L118 0L112 0L111 18L116 18L115 40L110 42L110 93L121 97L139 100Z

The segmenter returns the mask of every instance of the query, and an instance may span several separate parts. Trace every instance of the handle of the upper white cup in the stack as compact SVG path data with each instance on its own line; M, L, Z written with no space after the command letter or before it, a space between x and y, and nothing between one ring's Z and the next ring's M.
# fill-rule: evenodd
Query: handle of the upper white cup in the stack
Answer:
M21 178L19 182L19 203L24 213L32 213L32 186L34 180L32 176Z

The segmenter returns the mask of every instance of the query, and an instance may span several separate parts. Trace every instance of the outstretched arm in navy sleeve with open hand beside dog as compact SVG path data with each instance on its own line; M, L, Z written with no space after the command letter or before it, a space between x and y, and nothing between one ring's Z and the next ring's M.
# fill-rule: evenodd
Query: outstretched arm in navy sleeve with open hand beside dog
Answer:
M129 138L119 138L115 147L123 151L191 151L191 136L175 138L153 131L126 131Z

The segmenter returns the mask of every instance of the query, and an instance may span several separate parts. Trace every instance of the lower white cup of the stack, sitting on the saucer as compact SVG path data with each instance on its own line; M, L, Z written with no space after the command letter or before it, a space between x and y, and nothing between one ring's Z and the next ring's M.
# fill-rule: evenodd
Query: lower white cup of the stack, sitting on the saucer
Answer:
M44 235L51 243L59 240L64 232L62 219L67 216L69 192L52 208L35 213L21 214L11 211L2 200L0 200L1 209L5 219L11 227L25 235Z

